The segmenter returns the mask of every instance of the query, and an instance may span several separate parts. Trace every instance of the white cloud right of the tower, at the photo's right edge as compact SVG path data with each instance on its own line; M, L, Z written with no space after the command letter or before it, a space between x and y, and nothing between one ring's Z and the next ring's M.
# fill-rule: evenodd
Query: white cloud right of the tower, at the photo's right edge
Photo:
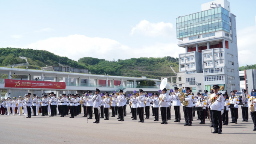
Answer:
M256 64L256 26L247 27L237 32L239 67Z

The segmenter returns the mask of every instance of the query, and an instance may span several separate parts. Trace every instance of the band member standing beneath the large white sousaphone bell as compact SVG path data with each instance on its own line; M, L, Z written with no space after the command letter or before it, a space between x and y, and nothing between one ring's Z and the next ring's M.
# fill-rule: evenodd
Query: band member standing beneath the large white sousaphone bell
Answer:
M169 107L168 101L169 101L169 94L166 93L167 89L162 89L162 94L159 95L159 97L162 99L160 104L160 111L161 111L161 117L162 117L162 123L161 124L168 124L167 123L167 108Z

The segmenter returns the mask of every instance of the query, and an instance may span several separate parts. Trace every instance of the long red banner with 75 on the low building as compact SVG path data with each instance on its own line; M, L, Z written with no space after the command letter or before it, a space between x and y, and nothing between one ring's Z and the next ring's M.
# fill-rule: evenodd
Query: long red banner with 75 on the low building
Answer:
M66 89L65 82L5 79L5 88Z

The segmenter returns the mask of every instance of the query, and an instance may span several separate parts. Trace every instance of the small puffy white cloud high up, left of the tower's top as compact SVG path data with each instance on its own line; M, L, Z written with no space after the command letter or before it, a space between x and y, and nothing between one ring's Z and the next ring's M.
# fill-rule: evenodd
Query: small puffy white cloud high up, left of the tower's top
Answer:
M172 33L173 24L172 23L150 23L147 20L142 20L139 24L131 30L131 35L141 34L145 36L170 36Z

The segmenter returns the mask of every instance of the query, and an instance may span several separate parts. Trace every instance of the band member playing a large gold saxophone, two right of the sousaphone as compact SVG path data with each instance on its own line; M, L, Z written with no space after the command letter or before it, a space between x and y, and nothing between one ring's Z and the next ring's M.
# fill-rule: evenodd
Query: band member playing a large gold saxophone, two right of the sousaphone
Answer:
M183 112L185 117L185 124L184 126L192 126L192 94L190 94L190 88L186 87L186 94L185 97L182 97L185 101L188 102L187 106L183 106Z

